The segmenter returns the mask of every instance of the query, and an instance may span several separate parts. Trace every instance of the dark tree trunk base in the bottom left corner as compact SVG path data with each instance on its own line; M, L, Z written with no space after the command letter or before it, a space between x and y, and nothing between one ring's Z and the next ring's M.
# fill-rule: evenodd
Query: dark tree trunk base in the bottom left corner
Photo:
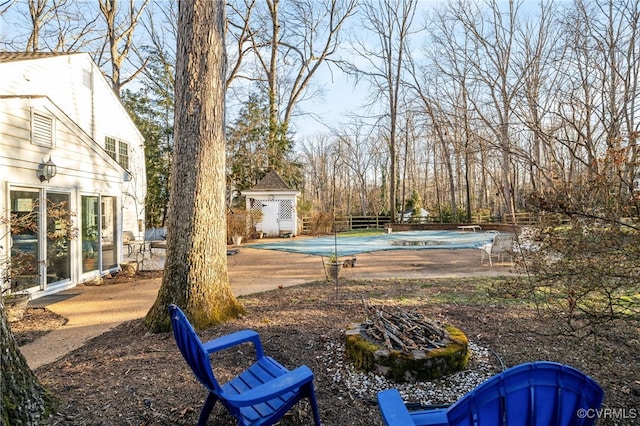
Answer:
M27 365L4 310L0 297L0 348L2 348L0 389L0 424L33 425L47 417L54 408L55 399L42 387Z

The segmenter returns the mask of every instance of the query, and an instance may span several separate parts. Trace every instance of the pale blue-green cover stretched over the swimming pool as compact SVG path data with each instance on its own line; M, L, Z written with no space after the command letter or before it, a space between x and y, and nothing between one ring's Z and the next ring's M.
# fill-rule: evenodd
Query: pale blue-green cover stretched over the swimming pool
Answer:
M247 247L331 256L337 246L337 255L350 256L358 253L384 250L468 249L479 248L490 241L484 232L462 231L408 231L391 234L375 234L362 237L334 236L300 238L272 243L248 244Z

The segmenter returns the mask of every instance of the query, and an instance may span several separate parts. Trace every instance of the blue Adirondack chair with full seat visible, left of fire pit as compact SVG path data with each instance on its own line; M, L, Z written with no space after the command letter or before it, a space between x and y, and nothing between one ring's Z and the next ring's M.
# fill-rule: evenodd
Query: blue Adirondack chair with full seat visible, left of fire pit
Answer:
M239 425L271 425L282 418L298 401L309 398L316 425L320 415L313 387L313 373L307 366L289 371L273 358L265 356L260 336L253 330L242 330L202 343L187 317L176 305L169 306L173 335L193 374L209 391L198 425L207 423L218 400L238 420ZM238 377L220 386L209 354L253 343L256 361Z

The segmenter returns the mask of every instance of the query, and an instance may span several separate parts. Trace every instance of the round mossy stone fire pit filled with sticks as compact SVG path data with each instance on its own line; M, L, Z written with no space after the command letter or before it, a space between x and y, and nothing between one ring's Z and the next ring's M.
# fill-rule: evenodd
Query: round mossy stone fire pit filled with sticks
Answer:
M416 311L376 308L365 303L368 318L352 324L345 352L356 368L404 382L438 379L460 371L469 361L469 341L458 328Z

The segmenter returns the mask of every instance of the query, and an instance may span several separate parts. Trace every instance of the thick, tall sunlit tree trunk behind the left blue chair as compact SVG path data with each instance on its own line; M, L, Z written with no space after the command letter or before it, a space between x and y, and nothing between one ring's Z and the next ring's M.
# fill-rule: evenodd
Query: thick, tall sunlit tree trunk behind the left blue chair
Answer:
M145 320L153 332L169 330L170 303L198 329L243 310L227 276L224 6L207 0L179 4L167 260Z

